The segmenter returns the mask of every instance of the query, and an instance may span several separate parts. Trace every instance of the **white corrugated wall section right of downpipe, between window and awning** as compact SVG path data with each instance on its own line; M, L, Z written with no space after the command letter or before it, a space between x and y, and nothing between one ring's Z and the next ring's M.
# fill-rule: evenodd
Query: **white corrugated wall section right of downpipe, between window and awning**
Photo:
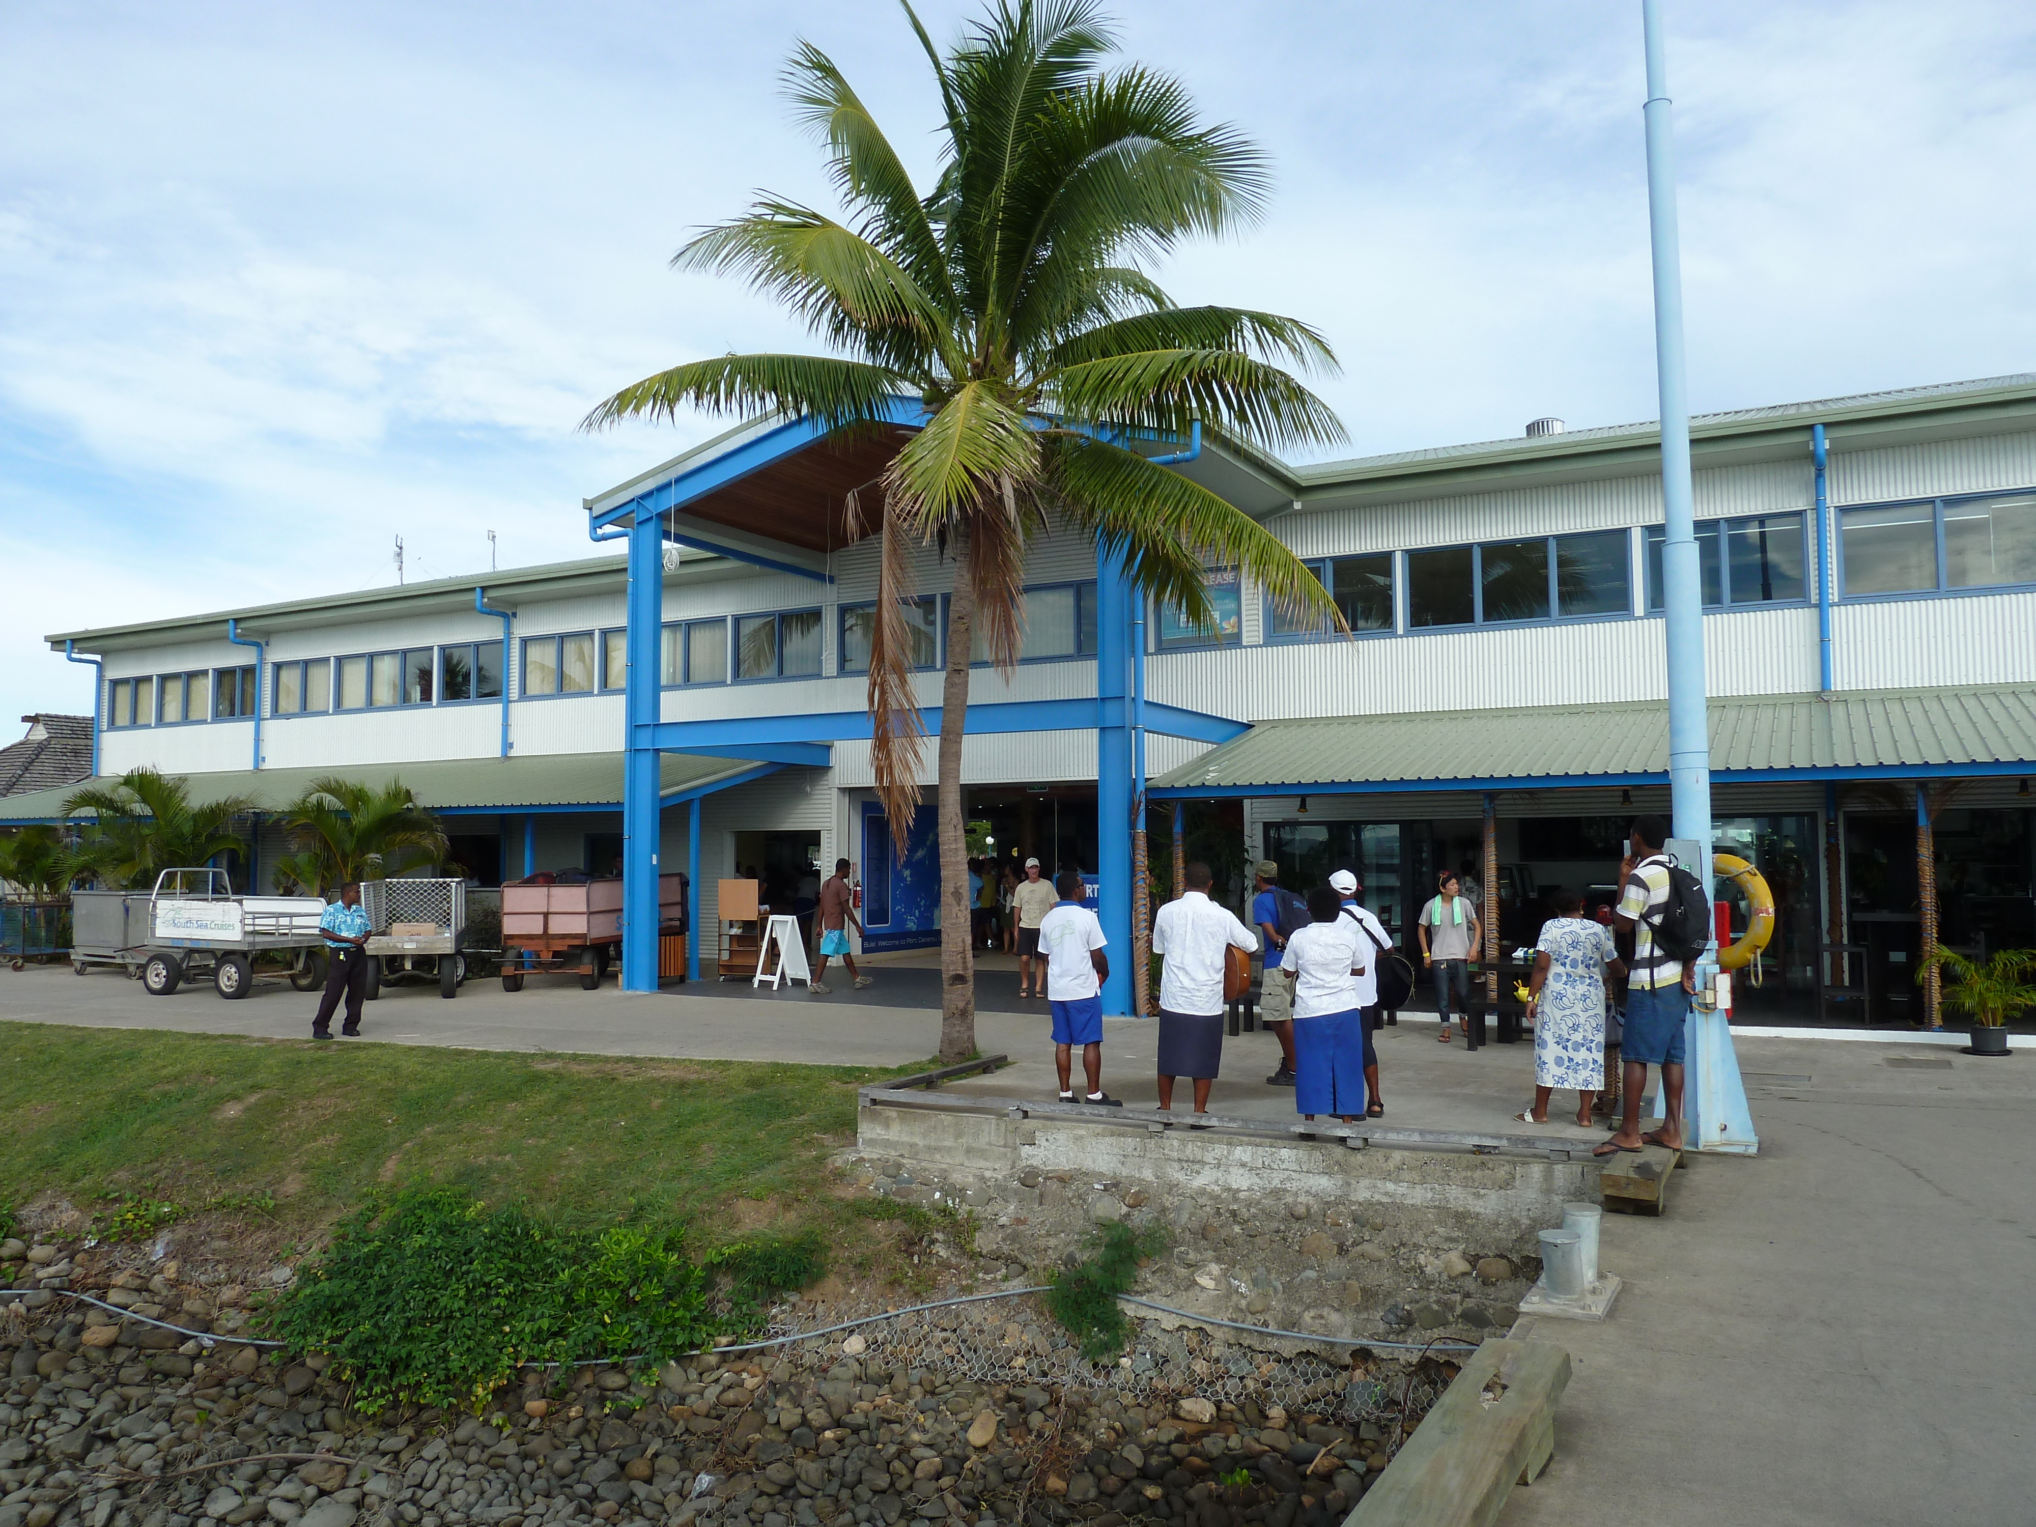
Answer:
M1839 605L1830 631L1839 688L2026 684L2036 595Z

